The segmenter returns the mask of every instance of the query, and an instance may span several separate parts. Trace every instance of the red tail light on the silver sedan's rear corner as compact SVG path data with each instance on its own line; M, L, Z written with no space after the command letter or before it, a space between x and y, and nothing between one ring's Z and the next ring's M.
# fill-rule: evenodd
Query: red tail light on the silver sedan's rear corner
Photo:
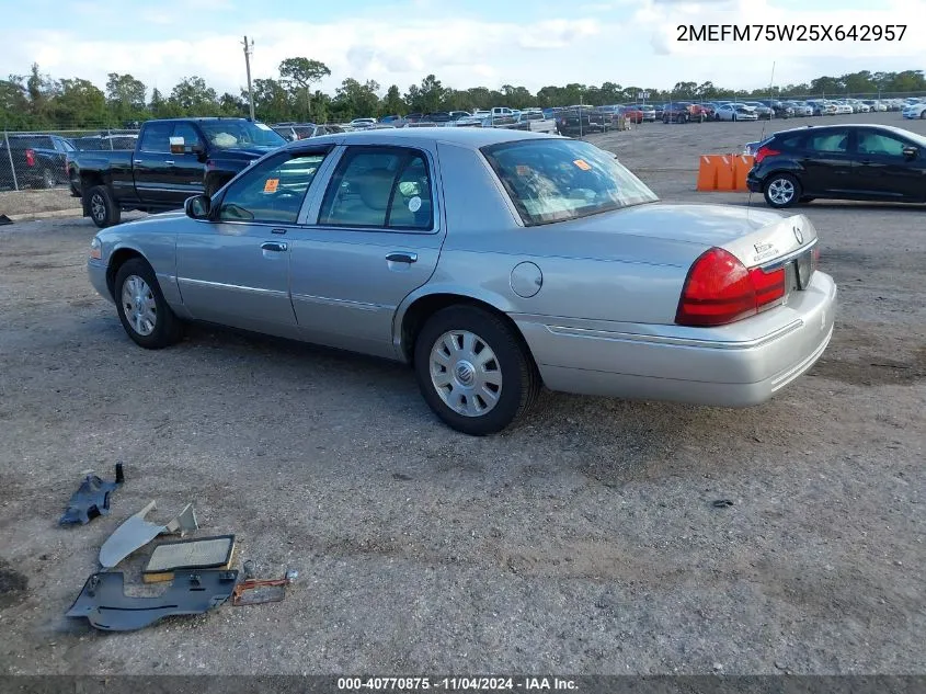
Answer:
M675 322L723 326L771 308L785 296L784 268L747 270L721 248L705 251L691 265L682 289Z

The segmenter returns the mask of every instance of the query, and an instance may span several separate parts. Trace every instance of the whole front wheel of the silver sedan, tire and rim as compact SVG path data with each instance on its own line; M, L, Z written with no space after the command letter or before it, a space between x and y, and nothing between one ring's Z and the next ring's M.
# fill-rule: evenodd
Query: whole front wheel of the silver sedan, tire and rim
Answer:
M155 271L146 261L126 261L116 273L114 289L119 321L136 344L160 350L183 337L183 323L168 306Z

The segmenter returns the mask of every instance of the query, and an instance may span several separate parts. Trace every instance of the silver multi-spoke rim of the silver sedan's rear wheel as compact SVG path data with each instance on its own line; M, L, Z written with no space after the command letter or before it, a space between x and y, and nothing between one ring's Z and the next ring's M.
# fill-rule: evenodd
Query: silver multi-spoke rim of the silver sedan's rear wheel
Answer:
M502 369L492 348L468 330L451 330L431 350L431 383L444 403L465 417L482 417L499 403Z

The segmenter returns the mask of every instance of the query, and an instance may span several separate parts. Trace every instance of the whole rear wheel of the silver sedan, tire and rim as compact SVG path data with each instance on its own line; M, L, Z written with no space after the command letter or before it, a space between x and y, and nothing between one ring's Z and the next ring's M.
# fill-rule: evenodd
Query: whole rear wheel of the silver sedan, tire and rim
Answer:
M476 306L434 314L415 340L421 394L448 426L494 434L533 407L541 380L526 346L501 317Z

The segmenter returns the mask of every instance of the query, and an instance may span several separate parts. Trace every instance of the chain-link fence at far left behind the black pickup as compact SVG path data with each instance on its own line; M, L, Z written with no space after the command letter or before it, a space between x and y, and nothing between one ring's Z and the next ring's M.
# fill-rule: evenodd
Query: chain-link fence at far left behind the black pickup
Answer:
M135 149L137 139L137 129L3 130L0 134L0 191L68 185L69 155Z

